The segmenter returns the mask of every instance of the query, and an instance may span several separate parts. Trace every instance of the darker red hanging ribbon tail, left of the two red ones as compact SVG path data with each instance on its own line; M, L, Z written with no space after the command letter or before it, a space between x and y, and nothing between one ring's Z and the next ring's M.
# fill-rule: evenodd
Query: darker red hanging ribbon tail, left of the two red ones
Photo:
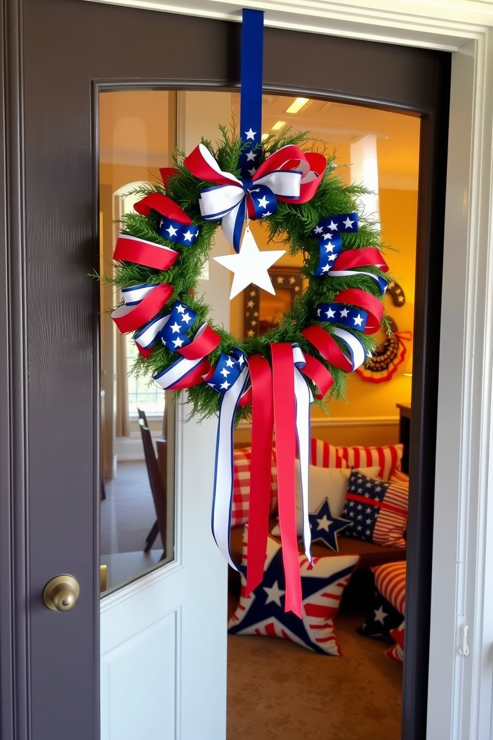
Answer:
M271 366L261 354L248 360L251 379L251 480L248 504L246 592L262 582L271 507L272 437L274 428Z

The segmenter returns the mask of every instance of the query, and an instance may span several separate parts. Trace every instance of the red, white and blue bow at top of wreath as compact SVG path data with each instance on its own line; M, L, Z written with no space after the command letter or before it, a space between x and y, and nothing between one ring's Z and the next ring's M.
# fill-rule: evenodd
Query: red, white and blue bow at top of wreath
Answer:
M252 164L251 178L239 180L223 172L207 147L199 144L184 164L195 177L216 183L200 191L200 213L205 221L222 220L225 238L239 252L247 212L251 219L265 218L276 213L277 201L310 201L327 161L321 154L305 154L290 144L273 152L258 169Z

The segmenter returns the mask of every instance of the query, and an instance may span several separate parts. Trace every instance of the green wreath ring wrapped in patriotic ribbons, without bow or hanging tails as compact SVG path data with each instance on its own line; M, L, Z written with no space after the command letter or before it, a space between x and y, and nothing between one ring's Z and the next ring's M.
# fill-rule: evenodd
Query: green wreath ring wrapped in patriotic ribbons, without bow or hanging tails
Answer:
M191 416L217 414L222 393L231 387L243 363L257 354L271 361L271 346L280 343L299 346L310 364L311 372L305 377L315 403L325 407L327 400L344 395L347 372L371 354L373 334L381 323L387 265L378 252L377 229L372 222L358 219L356 213L356 198L365 191L361 186L344 185L336 170L336 155L330 155L325 164L320 153L316 153L316 164L320 166L322 159L324 169L314 173L316 190L306 202L282 196L269 202L265 195L262 201L256 197L256 181L246 184L243 207L247 221L257 215L249 208L250 203L255 204L254 198L276 209L271 213L265 207L264 213L259 209L262 226L269 241L282 242L290 255L302 253L301 272L307 286L278 326L262 336L234 337L208 319L208 306L197 295L203 263L221 226L215 213L214 219L204 219L203 193L228 188L218 185L224 179L220 173L242 181L239 161L245 144L227 129L221 131L222 138L215 146L203 140L188 158L178 152L174 168L160 171L162 182L134 191L142 198L135 212L123 215L114 255L112 282L122 290L123 304L113 312L113 318L122 332L133 333L140 353L135 372L152 374L164 388L186 388ZM279 161L281 166L288 163L293 168L280 172L298 172L295 168L300 166L300 158L306 158L307 144L306 133L271 135L259 149L256 172L262 175L264 166L275 177ZM204 166L204 160L197 166L204 155L206 165L209 161L217 164L215 181L194 174ZM285 159L291 155L297 159ZM269 167L272 158L277 159L274 169ZM233 233L231 243L239 252L235 240ZM201 332L202 347L209 349L198 357L192 349L197 332ZM177 367L180 363L183 372ZM170 368L176 372L170 373ZM244 395L236 423L251 417L251 394L247 391Z

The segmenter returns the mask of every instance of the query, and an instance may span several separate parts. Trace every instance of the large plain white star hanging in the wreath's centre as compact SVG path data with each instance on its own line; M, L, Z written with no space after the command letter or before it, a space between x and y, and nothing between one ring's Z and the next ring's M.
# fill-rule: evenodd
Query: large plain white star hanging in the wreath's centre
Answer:
M250 229L245 229L242 246L239 248L238 254L214 257L216 262L234 272L229 300L241 293L250 283L254 283L254 285L263 288L268 293L276 295L267 271L284 254L285 249L260 252L258 246L256 246L254 235Z

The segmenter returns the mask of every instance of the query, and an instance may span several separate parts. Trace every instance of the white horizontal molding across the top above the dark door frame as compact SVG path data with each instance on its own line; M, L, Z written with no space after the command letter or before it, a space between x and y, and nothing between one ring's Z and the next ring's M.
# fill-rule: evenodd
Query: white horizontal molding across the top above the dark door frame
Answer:
M265 10L266 26L446 51L456 51L493 26L491 0L90 1L229 21L239 21L242 7L250 7Z

